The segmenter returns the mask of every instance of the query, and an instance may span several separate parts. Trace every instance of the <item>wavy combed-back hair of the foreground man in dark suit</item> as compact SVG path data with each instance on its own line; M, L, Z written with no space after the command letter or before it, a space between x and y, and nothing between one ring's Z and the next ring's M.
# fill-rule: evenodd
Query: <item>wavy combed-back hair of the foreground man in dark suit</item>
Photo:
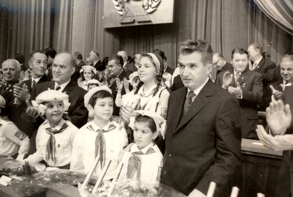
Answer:
M186 40L179 51L182 55L189 55L194 52L201 54L201 62L204 66L211 64L213 60L212 47L205 40Z

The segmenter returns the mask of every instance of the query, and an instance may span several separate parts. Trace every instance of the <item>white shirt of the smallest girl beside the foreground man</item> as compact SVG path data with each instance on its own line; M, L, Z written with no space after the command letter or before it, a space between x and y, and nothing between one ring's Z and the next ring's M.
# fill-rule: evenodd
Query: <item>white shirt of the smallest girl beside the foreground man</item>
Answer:
M154 149L154 153L145 154L149 148ZM142 148L141 150L138 149L137 144L134 143L130 150L125 152L123 155L122 163L123 168L121 170L119 179L120 181L130 178L127 177L127 169L129 164L129 159L131 156L135 155L135 152L142 151L144 154L137 155L141 158L141 169L140 169L140 180L144 182L160 182L161 181L161 171L162 171L162 161L163 161L163 154L161 153L158 146L154 143L150 143L146 147ZM135 172L132 178L137 177L137 172Z

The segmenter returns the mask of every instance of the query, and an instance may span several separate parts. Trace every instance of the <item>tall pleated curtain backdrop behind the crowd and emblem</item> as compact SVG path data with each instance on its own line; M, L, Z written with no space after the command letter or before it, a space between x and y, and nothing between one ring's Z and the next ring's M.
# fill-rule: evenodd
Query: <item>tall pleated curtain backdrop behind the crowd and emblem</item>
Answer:
M175 68L186 39L206 39L229 61L235 47L258 42L277 64L292 51L293 36L271 21L253 0L175 0L174 23L103 28L103 0L1 0L0 63L33 49L92 49L100 59L125 50L130 56L161 49ZM213 73L214 74L214 73Z

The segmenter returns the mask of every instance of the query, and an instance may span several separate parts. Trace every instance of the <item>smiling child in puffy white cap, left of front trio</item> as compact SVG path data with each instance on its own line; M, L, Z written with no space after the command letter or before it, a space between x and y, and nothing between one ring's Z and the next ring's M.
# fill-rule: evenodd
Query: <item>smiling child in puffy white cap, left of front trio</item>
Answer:
M37 130L36 152L24 161L44 160L48 166L69 169L73 138L78 128L63 118L70 106L68 95L49 89L40 93L32 104L46 120Z

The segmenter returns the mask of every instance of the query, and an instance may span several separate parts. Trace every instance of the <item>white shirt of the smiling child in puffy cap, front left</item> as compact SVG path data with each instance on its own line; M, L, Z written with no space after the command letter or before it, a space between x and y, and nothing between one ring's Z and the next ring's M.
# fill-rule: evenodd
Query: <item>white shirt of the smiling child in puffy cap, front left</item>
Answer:
M50 135L47 134L46 128L51 128L48 120L45 120L38 128L35 144L36 152L33 155L30 155L25 161L37 163L44 160L49 166L52 167L63 167L70 164L72 144L75 134L78 131L78 128L74 126L70 121L64 120L63 118L59 124L52 128L52 130L60 130L63 124L66 123L68 127L61 133L54 134L55 138L55 163L52 160L47 161L46 152L47 152L47 142Z

